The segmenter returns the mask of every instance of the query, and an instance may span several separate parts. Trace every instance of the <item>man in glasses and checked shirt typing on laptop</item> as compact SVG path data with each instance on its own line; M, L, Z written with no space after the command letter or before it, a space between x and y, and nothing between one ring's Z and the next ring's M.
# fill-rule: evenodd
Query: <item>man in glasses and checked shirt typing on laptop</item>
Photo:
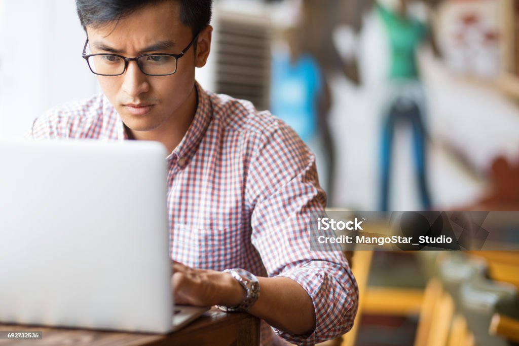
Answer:
M103 95L50 110L32 137L165 145L176 302L248 311L299 344L349 330L358 293L348 264L309 248L310 211L325 204L313 155L268 112L195 82L210 51L211 1L76 5ZM260 289L243 284L252 274ZM266 323L262 343L281 343Z

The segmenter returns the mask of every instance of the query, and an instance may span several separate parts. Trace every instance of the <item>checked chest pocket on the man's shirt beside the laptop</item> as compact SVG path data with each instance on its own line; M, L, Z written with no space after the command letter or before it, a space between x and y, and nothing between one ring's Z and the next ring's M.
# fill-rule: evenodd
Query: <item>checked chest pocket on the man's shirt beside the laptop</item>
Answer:
M241 227L206 228L175 223L171 234L171 258L192 268L235 268L243 263L246 242L247 235Z

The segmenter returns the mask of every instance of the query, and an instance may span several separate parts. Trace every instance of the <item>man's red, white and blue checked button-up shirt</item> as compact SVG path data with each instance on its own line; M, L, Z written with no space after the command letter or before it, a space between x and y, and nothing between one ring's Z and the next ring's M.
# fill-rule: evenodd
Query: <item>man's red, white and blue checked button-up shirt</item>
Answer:
M357 312L357 284L339 251L310 250L310 211L326 200L315 157L270 113L196 88L193 123L166 158L171 257L193 268L289 277L311 297L317 326L310 336L276 334L305 345L344 334ZM51 109L34 121L31 137L127 139L102 94ZM283 343L264 322L261 340Z

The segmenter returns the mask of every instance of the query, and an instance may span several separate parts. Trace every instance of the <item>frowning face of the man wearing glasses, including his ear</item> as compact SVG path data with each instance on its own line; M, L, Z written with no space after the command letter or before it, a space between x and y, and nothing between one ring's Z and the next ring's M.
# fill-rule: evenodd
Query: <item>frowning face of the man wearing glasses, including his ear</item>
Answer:
M177 1L148 5L100 28L87 26L87 34L92 54L113 53L128 58L148 53L180 54L193 38L192 30L180 21ZM178 121L176 117L189 109L186 100L193 92L195 66L206 63L210 40L208 27L197 39L196 53L190 47L172 75L145 75L135 61L128 62L122 75L98 75L104 94L122 122L134 131L153 131Z

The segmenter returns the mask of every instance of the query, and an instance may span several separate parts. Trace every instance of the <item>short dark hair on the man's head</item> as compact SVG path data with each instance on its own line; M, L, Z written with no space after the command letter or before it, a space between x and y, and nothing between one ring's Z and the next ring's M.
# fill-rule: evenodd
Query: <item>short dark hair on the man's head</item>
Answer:
M117 21L146 5L172 0L76 0L79 21L99 27L106 22ZM180 2L180 21L191 28L193 35L211 21L212 0L176 0Z

